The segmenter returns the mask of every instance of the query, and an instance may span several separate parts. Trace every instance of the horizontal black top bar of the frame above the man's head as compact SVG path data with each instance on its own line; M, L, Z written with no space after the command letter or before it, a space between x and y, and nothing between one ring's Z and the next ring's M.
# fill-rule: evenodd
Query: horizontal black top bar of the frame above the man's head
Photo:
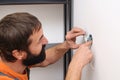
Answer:
M65 3L66 0L0 0L0 4Z

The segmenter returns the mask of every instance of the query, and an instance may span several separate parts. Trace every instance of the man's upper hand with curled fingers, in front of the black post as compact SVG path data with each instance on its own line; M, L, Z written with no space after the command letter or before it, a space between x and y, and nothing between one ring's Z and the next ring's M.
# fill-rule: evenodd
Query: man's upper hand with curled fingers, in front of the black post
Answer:
M66 42L69 48L76 49L79 47L79 44L76 44L76 37L84 35L85 31L81 28L74 27L71 31L67 32Z

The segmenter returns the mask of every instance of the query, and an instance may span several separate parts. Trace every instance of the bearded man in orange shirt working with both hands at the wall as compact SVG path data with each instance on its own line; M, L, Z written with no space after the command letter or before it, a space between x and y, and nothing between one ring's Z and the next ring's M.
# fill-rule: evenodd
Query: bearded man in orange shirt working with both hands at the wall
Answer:
M28 80L29 68L45 67L55 63L68 49L78 48L70 63L66 80L79 80L84 65L92 59L89 45L75 44L77 36L84 35L73 28L62 44L45 50L48 43L42 24L29 13L13 13L0 21L0 80ZM72 70L74 69L74 70Z

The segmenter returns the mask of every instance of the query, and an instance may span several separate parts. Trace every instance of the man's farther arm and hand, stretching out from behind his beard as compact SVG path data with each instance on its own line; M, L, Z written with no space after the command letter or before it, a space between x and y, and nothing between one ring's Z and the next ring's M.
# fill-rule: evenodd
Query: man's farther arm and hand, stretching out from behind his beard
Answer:
M69 49L78 48L76 44L76 37L84 35L85 31L81 28L74 27L71 31L67 32L66 41L46 50L46 60L42 63L33 65L33 67L44 67L58 61Z

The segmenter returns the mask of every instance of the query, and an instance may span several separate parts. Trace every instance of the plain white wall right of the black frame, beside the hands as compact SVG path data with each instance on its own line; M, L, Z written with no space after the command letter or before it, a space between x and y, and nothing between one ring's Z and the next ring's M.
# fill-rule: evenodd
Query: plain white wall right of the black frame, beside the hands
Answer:
M82 80L120 80L120 0L74 0L73 25L93 35L93 67Z

